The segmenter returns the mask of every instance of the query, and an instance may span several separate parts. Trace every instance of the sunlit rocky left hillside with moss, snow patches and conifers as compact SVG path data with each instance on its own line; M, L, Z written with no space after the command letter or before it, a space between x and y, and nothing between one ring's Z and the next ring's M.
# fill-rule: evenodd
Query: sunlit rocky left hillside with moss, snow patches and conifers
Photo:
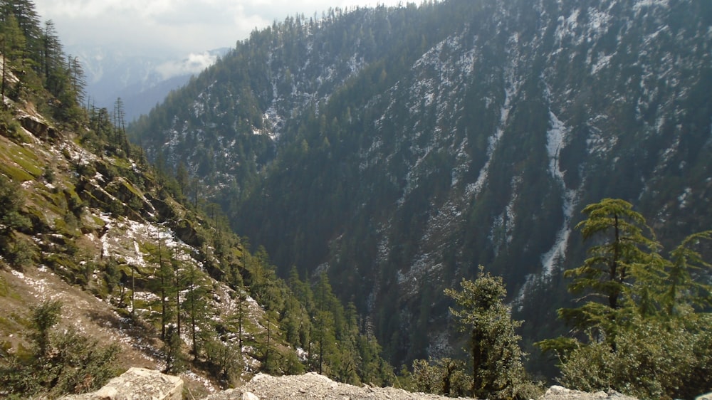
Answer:
M31 3L0 13L0 397L90 391L136 366L179 374L191 396L258 372L392 379L325 275L277 278L127 141L121 107L83 103L81 65Z

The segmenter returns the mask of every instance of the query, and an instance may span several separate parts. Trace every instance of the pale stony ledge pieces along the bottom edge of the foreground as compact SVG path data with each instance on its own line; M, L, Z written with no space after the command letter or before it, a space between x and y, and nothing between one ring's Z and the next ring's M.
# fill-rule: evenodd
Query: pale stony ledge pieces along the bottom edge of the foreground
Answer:
M69 396L65 400L180 400L183 381L149 369L132 368L120 377L114 378L99 391L80 396ZM438 399L449 397L435 394L412 393L392 387L353 386L340 384L315 372L304 375L271 377L257 374L245 386L229 389L208 396L206 400L300 400L300 399ZM615 391L584 393L551 386L544 400L634 400Z

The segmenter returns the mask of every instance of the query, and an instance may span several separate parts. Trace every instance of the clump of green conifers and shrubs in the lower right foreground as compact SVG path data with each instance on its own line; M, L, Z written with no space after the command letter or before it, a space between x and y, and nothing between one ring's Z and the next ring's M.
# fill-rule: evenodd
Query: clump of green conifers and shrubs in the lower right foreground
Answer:
M587 206L582 233L608 233L590 249L592 257L566 271L577 293L589 300L560 316L583 335L538 343L560 359L561 381L574 389L615 389L639 398L691 398L712 385L712 334L705 307L711 287L701 283L710 265L699 247L711 231L695 233L659 256L659 244L644 218L621 200ZM597 268L597 269L596 269ZM703 282L703 281L702 281Z

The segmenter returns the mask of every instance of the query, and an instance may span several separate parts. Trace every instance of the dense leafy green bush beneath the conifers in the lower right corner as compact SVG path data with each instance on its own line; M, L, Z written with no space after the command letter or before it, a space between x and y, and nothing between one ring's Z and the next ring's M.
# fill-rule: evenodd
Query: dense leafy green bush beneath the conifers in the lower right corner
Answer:
M641 399L690 399L712 387L710 321L636 318L605 340L574 349L561 364L561 382L584 391L614 389ZM690 326L695 325L695 326Z

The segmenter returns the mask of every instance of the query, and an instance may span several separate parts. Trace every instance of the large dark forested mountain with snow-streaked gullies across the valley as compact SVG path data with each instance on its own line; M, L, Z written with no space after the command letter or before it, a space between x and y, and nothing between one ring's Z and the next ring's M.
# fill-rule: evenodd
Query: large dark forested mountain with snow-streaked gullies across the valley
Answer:
M712 6L449 0L255 31L132 126L281 274L327 271L394 364L454 352L444 288L502 275L562 329L587 204L670 248L711 226Z

